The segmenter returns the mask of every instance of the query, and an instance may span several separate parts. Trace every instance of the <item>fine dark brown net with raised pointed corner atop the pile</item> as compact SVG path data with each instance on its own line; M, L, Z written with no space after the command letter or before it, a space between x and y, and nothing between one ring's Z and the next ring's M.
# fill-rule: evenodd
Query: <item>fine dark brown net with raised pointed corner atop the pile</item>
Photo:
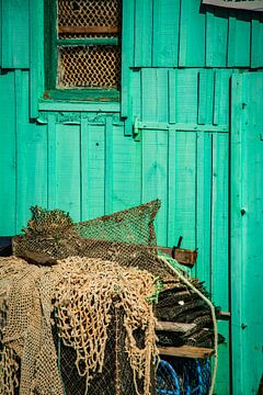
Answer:
M42 264L72 256L105 259L173 282L174 275L159 261L155 247L159 207L160 202L152 201L77 225L59 210L33 207L24 235L13 239L13 253Z

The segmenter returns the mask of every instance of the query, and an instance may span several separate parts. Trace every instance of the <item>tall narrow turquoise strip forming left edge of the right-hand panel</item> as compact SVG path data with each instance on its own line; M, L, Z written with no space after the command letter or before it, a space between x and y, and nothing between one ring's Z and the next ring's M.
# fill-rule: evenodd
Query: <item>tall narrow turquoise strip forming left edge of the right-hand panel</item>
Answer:
M242 226L240 210L242 182L241 172L241 103L242 98L242 76L232 76L232 116L231 116L231 157L230 157L230 259L231 259L231 351L232 351L232 392L238 394L243 383L243 348L242 332L242 248L240 240L242 238Z

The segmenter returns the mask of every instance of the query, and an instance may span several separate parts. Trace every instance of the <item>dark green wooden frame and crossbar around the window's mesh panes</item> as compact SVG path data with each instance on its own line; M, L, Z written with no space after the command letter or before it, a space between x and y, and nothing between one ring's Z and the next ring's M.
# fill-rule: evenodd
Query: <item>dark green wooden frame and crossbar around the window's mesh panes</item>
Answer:
M57 64L58 47L60 46L94 46L108 45L118 46L119 37L88 37L88 38L59 38L57 31L57 0L45 0L45 93L44 99L52 100L85 100L85 101L119 101L119 90L116 88L58 88L57 87ZM117 33L117 27L105 26L106 31L95 27L99 33ZM67 31L73 30L72 33L95 33L91 26L65 26ZM119 26L122 29L122 26ZM59 29L61 32L61 27ZM78 30L78 32L77 32ZM65 31L65 30L64 30ZM122 50L121 50L122 58ZM121 76L119 76L121 80Z

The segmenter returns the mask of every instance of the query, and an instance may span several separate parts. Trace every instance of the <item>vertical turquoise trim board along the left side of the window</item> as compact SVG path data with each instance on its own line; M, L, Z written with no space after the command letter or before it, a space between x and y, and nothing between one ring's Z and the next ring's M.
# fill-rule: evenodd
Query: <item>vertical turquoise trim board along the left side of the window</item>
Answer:
M44 2L30 0L30 117L38 115L38 99L44 93Z

